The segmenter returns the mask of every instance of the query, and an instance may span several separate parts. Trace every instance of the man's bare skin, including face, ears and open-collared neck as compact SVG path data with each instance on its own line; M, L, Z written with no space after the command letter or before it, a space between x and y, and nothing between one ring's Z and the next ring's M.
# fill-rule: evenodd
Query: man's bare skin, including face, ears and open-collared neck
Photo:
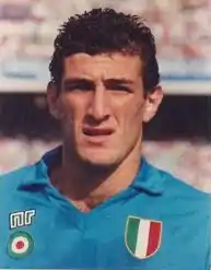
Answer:
M161 86L144 95L141 74L138 56L77 54L63 60L60 89L48 85L49 109L63 136L62 162L51 181L82 211L126 189L136 177L142 125L163 98Z

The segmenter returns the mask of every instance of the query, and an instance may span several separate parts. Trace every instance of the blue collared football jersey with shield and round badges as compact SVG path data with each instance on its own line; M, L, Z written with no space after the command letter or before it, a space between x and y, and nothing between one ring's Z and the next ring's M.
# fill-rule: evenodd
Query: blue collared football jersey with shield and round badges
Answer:
M0 179L0 268L209 269L209 195L142 159L127 190L82 213L48 178L58 151Z

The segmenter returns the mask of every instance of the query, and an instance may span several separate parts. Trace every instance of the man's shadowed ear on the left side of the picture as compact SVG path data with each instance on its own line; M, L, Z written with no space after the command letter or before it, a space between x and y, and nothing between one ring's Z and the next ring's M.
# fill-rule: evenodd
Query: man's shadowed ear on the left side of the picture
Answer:
M59 94L55 83L49 82L47 85L47 103L50 114L54 118L60 119Z

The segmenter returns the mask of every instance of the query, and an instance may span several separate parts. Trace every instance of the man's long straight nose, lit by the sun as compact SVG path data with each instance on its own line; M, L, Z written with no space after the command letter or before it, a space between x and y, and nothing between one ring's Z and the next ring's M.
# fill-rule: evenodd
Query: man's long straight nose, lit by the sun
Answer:
M103 86L98 86L93 91L89 115L96 121L109 118L107 93Z

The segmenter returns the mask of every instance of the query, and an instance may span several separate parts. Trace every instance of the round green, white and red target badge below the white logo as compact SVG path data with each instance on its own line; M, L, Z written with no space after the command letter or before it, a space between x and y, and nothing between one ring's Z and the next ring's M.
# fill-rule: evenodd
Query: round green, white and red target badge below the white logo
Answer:
M13 258L23 258L28 255L34 247L32 236L26 232L15 232L8 243L8 253Z

